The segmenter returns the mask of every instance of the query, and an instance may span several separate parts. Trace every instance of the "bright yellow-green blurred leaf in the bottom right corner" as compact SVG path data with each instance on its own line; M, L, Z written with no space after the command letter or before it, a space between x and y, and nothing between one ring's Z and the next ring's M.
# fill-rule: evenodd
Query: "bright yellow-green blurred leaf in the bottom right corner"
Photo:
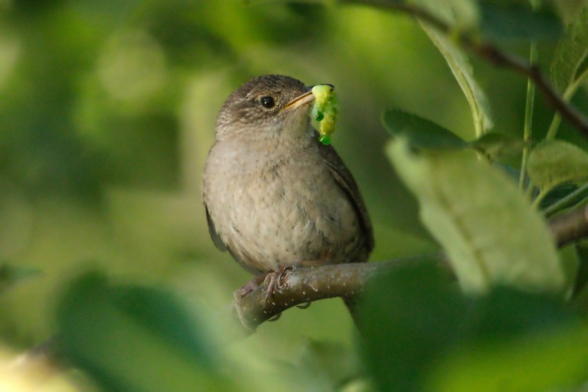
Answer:
M448 355L430 391L577 391L588 371L588 334L579 326L506 341L481 341Z

